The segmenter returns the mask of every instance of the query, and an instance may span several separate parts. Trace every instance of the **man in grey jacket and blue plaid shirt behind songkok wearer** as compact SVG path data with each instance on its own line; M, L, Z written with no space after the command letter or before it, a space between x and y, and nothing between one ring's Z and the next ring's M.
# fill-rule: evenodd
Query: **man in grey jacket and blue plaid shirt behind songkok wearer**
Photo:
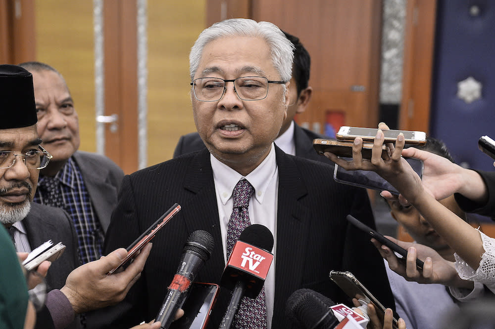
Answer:
M33 74L38 134L53 156L41 170L34 202L67 211L76 228L81 263L97 260L124 173L104 156L77 151L78 116L62 75L40 62L20 66Z

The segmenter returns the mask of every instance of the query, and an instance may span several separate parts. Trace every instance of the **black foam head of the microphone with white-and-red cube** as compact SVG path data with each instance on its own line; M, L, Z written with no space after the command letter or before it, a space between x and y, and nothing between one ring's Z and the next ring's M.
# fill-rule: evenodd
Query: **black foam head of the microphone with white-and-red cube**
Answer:
M330 308L333 305L330 298L314 290L299 289L287 299L285 314L297 328L330 329L339 324Z

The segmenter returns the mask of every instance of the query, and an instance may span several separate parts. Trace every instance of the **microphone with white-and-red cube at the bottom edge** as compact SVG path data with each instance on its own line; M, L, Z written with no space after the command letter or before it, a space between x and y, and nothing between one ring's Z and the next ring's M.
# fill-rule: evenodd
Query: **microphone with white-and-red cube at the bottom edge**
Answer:
M354 312L359 308L364 315ZM349 308L344 304L337 304L328 297L311 289L299 289L287 299L286 316L293 321L297 328L305 329L331 329L341 328L366 328L369 318L366 314L366 306ZM345 319L350 316L352 323L346 324ZM348 321L348 320L347 320ZM345 325L345 326L344 326Z

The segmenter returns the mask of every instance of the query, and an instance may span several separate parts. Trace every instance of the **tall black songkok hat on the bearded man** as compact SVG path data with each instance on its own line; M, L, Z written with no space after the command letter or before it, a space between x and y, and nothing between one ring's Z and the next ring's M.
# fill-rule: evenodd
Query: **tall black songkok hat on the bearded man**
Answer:
M0 65L0 129L37 122L33 75L17 65Z

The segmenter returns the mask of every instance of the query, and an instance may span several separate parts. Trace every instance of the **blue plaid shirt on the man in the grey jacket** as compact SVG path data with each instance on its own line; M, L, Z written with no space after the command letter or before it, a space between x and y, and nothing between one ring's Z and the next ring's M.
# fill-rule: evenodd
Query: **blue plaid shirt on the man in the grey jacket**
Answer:
M88 189L84 184L79 166L71 157L55 177L40 174L34 202L57 206L53 204L53 200L48 198L49 181L52 179L56 182L56 193L58 200L62 203L61 206L58 206L67 211L74 222L81 264L99 259L103 251L104 232L91 202Z

